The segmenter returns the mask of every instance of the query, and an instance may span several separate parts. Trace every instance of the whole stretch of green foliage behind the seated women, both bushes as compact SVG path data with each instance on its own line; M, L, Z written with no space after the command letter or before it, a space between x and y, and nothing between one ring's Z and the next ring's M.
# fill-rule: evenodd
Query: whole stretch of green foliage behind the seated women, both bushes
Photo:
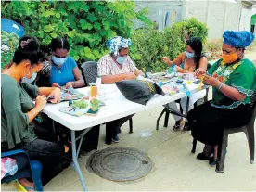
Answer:
M130 55L143 71L166 70L163 56L175 58L185 50L188 36L205 42L208 29L195 18L177 22L163 32L153 29L147 9L135 11L133 1L2 1L2 18L23 25L25 32L37 37L42 45L52 38L65 36L70 56L78 63L98 60L109 53L106 41L116 35L130 37ZM134 19L146 24L134 30Z

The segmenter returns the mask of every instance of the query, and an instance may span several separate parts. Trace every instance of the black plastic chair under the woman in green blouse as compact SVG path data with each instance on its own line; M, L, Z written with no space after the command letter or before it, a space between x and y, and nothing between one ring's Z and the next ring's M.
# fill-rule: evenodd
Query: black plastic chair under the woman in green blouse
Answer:
M252 108L252 115L250 117L250 122L241 127L235 128L224 128L223 141L222 144L218 146L218 157L216 164L216 172L224 173L224 159L228 141L228 134L235 134L239 132L244 132L248 139L249 150L250 150L250 164L254 163L254 147L255 147L255 139L254 139L254 122L256 117L256 90L250 97L250 106ZM193 140L192 153L196 152L197 147L197 139Z

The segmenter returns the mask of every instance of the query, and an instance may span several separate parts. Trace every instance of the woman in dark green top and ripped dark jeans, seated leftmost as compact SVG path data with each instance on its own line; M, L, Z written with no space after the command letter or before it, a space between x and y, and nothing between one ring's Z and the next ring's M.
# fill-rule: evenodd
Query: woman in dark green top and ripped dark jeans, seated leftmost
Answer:
M42 140L34 133L33 120L44 109L45 96L53 96L53 103L60 100L59 88L38 88L31 84L43 68L44 60L37 39L22 37L12 65L1 75L1 150L21 148L31 160L39 160L43 165L43 185L71 162L68 146ZM35 105L32 98L35 98ZM19 183L33 190L27 178L19 179Z

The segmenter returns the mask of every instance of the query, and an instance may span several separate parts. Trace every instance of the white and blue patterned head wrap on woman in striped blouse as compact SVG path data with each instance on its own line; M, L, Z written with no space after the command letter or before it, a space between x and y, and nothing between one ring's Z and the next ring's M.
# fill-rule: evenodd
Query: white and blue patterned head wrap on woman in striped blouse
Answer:
M106 43L107 47L109 47L110 52L113 53L115 56L118 56L120 49L128 48L132 45L131 39L125 39L123 37L117 36L109 39Z

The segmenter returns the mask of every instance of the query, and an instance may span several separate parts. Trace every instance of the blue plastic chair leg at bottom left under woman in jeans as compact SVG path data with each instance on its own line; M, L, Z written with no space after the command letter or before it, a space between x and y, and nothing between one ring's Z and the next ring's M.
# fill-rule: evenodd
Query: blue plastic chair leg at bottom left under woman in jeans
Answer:
M41 182L41 172L42 172L42 165L37 160L31 160L31 170L32 170L32 182L35 186L36 191L44 191Z

